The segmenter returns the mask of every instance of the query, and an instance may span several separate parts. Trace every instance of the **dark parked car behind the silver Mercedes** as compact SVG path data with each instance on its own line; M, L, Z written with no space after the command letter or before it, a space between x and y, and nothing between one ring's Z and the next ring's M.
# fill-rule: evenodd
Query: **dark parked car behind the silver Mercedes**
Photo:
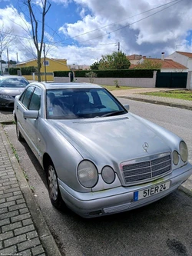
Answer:
M16 95L20 95L29 84L28 80L17 75L0 76L0 108L13 108Z

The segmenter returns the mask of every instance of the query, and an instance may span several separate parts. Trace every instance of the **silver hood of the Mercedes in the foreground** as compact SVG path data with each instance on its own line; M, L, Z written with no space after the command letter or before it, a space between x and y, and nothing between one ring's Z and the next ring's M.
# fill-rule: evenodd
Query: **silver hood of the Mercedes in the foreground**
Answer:
M81 120L50 120L52 125L79 151L94 162L122 162L170 151L162 138L133 115ZM147 151L144 143L147 142ZM109 163L110 164L110 163Z

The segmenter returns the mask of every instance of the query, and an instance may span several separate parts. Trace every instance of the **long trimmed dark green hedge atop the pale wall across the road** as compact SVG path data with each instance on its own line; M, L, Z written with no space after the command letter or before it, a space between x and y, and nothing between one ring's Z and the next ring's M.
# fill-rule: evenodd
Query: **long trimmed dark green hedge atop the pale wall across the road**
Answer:
M124 69L124 70L90 70L97 74L97 78L153 78L157 69ZM85 78L89 70L75 70L74 76ZM70 71L54 71L55 77L68 77Z

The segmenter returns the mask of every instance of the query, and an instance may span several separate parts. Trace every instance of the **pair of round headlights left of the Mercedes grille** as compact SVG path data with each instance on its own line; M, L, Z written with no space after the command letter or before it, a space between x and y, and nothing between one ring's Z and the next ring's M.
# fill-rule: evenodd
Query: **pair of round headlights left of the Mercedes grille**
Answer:
M101 176L108 184L114 182L115 174L110 166L104 166ZM84 160L78 165L78 180L85 188L93 188L97 184L98 170L91 161Z

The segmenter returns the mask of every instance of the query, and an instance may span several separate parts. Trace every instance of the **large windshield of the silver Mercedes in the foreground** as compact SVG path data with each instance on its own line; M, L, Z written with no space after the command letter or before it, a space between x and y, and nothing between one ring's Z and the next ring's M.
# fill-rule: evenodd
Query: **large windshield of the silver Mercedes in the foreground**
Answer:
M48 90L46 99L48 119L98 118L127 113L104 88Z

